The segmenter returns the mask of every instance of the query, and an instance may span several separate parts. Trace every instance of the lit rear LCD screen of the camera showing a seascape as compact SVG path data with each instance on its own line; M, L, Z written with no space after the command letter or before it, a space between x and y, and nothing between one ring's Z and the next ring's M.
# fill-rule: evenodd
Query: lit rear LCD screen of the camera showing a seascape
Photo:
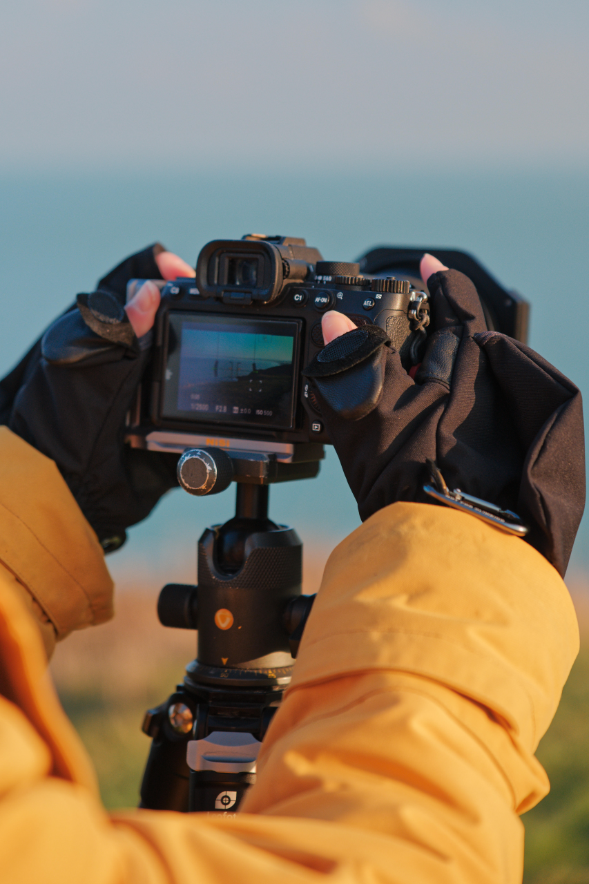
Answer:
M163 416L293 426L299 323L170 312Z

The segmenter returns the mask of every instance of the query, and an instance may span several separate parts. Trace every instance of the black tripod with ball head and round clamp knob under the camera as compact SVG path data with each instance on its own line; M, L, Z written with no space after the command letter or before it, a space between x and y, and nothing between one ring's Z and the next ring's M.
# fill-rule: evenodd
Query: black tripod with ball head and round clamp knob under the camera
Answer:
M185 452L180 485L202 495L237 484L235 515L204 530L198 585L170 583L157 602L164 626L197 629L196 659L165 702L149 709L152 738L142 807L234 812L256 780L256 758L291 680L314 596L302 596L302 542L268 518L269 484L317 476L321 446L274 454Z

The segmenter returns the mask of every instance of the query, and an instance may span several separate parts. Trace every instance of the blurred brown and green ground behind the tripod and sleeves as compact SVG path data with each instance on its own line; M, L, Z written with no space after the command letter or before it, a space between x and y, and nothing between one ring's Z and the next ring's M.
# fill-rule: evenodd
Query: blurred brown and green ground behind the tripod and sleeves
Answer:
M317 591L327 552L306 553L304 592ZM523 818L524 884L589 882L589 576L572 577L569 585L581 624L581 653L539 746L552 789ZM149 751L143 714L172 692L195 656L195 634L160 626L156 600L153 591L127 583L119 591L115 619L70 636L51 665L108 808L137 804Z

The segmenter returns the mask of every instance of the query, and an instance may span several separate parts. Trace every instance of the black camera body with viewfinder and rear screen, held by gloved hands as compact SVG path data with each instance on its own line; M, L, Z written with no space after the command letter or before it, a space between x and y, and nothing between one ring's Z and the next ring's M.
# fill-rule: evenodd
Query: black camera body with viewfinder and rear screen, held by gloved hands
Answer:
M318 459L329 438L302 369L324 346L329 309L379 325L407 368L425 339L427 295L407 279L365 278L359 264L325 262L294 237L210 242L195 278L163 285L127 438L160 451L221 446L292 461L296 449Z

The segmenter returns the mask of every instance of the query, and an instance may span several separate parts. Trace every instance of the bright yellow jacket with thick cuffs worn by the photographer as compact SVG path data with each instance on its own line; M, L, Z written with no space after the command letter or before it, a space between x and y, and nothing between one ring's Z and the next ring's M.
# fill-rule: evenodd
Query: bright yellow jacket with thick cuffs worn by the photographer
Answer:
M521 880L517 814L547 792L533 753L578 652L531 546L413 503L340 544L256 786L226 816L103 810L40 636L50 650L108 618L111 580L55 464L5 428L0 560L0 880Z

